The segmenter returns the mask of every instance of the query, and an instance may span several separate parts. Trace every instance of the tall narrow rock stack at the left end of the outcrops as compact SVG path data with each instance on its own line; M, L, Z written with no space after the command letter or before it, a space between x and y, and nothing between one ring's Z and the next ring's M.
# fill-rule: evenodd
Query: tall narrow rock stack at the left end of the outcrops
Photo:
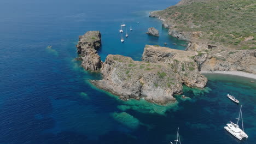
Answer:
M94 71L101 68L101 57L97 53L97 49L101 47L100 31L89 31L79 36L76 46L79 53L79 57L76 59L82 61L82 67L85 70Z

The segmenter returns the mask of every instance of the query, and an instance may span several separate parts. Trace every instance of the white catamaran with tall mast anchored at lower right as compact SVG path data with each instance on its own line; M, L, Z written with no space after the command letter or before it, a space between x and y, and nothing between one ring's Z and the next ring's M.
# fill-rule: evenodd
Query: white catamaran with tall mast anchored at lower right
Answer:
M239 128L238 122L240 120L241 115L241 121L242 121L242 130ZM226 124L227 126L224 127L226 131L228 131L230 134L234 135L238 140L242 140L243 138L248 138L248 135L243 131L243 116L242 116L242 105L240 108L239 116L237 118L237 123L230 123Z

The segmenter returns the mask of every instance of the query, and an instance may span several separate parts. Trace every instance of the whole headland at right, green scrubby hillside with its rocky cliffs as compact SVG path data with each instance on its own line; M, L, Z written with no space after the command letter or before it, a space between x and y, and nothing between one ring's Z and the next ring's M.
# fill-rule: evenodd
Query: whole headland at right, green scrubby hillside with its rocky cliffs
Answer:
M253 26L249 26L248 20L243 21L248 25L241 23L241 20L235 20L234 25L228 25L229 18L234 17L231 16L234 11L237 12L236 17L247 14L251 17L251 3L253 1L250 0L240 7L241 4L233 0L182 0L165 10L151 12L150 17L162 20L162 26L168 28L168 34L189 42L186 50L197 52L197 55L191 58L197 63L200 71L237 70L256 74ZM243 11L239 11L240 9ZM204 10L213 10L213 15L206 15ZM216 15L227 17L215 19ZM212 20L215 21L209 22ZM211 26L208 26L209 23Z

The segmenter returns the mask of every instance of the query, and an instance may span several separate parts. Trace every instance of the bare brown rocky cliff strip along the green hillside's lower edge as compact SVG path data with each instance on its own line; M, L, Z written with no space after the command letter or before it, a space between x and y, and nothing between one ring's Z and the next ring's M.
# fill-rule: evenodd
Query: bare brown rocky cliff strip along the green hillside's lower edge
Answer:
M185 4L189 4L185 1ZM182 5L182 1L178 5ZM199 39L201 32L177 31L174 23L170 23L159 11L150 12L149 17L158 17L162 26L168 28L168 34L179 40L189 41L186 51L199 53L193 57L199 70L204 71L243 71L256 74L256 50L230 50L223 45L212 45Z

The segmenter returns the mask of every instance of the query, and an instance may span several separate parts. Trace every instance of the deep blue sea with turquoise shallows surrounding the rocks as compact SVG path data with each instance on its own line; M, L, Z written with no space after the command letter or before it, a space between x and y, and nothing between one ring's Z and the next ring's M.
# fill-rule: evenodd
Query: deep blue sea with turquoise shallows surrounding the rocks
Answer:
M206 75L203 91L184 87L191 99L168 106L146 101L121 101L92 87L101 79L79 67L75 44L86 31L102 33L99 51L140 60L145 44L183 50L184 41L167 35L161 22L148 17L178 1L39 1L0 2L0 143L168 143L180 128L182 143L254 143L256 84L251 79ZM129 38L120 43L124 21ZM139 22L139 24L137 23ZM146 35L148 27L160 37ZM46 49L53 45L53 49ZM255 80L254 80L255 81ZM237 141L224 125L236 121L243 105L248 141ZM113 113L126 112L133 116Z

